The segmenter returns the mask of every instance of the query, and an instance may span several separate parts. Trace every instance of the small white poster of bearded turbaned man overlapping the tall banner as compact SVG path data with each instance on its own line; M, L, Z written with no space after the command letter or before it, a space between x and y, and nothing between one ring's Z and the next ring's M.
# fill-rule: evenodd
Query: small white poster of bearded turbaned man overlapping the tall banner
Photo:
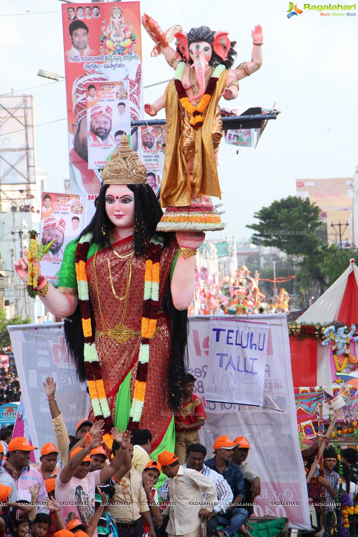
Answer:
M107 159L119 146L126 133L130 142L130 103L128 80L94 86L98 101L87 101L87 161L88 168L104 168Z

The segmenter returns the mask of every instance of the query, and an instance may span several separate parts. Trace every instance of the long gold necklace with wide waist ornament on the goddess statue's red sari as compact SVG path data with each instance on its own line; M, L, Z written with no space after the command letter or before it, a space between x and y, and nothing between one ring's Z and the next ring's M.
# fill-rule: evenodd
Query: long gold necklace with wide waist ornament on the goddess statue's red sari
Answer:
M132 339L135 336L142 335L142 332L135 332L132 328L128 328L128 326L125 326L124 324L124 320L125 320L126 312L127 312L127 303L128 303L128 293L129 293L129 284L130 284L129 274L131 271L131 259L128 262L126 292L124 296L121 320L113 328L108 328L103 317L101 303L99 300L99 288L98 288L97 269L96 269L98 250L99 250L99 246L97 246L96 253L93 256L93 275L94 275L94 284L96 285L99 315L100 315L104 330L97 330L96 328L96 333L99 337L109 336L110 338L115 339L118 343L125 344L127 343L128 339Z

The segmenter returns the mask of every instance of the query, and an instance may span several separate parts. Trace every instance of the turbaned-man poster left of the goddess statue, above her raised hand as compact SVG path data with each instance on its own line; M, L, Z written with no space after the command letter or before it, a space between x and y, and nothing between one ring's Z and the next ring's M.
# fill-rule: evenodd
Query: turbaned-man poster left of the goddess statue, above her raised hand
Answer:
M43 246L53 245L41 260L41 274L50 284L59 284L59 271L65 246L85 228L86 196L43 192L40 237Z

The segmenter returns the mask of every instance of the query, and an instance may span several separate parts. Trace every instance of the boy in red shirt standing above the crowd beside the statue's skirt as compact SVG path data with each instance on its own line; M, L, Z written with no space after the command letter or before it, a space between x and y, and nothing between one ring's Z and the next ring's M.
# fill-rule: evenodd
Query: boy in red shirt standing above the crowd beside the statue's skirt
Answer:
M198 444L199 429L204 425L206 413L200 397L194 395L195 377L189 373L185 375L185 383L182 389L181 409L174 414L176 429L176 445L174 452L179 459L179 464L186 461L186 446Z

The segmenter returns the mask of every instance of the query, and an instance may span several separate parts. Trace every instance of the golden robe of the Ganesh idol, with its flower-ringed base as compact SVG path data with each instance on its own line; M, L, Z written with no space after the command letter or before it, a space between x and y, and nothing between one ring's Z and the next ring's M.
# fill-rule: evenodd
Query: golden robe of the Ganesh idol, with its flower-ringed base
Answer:
M166 212L157 229L218 230L221 218L208 196L221 198L215 153L223 135L218 101L225 89L228 70L218 78L204 110L203 124L194 129L191 114L182 106L174 80L164 94L167 121L166 154L160 202Z

